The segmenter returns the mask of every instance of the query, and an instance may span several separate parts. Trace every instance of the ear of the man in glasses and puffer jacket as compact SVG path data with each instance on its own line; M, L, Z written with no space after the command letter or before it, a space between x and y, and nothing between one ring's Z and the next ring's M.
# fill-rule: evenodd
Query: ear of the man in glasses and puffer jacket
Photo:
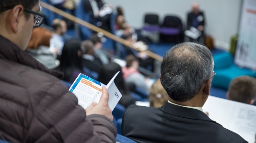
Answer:
M10 12L9 21L12 32L16 33L18 31L18 24L21 18L21 13L23 11L22 5L16 5Z

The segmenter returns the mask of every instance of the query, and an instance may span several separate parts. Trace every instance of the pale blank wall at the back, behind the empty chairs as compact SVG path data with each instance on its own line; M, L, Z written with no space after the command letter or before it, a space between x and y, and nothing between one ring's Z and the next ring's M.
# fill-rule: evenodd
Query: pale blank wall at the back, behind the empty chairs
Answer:
M178 15L186 26L187 12L195 0L104 0L121 6L128 23L135 28L143 25L144 14L156 12L160 20L166 14ZM198 0L206 17L206 33L213 36L218 44L229 44L230 37L238 33L241 0ZM228 46L228 45L227 45Z

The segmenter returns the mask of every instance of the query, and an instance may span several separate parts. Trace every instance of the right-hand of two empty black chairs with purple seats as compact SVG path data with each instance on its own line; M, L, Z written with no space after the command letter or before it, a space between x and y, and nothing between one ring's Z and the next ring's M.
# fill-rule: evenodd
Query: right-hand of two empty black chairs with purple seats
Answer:
M167 43L183 41L182 21L177 16L165 16L160 26L160 40Z

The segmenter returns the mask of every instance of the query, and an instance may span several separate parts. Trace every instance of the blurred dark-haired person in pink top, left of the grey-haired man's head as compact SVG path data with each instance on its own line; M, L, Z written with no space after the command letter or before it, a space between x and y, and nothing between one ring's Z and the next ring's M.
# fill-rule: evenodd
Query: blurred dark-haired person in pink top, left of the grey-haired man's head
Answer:
M136 87L142 89L144 92L149 92L149 86L146 84L146 78L139 71L139 61L134 55L128 55L125 58L126 66L122 68L124 79L126 82L131 82Z

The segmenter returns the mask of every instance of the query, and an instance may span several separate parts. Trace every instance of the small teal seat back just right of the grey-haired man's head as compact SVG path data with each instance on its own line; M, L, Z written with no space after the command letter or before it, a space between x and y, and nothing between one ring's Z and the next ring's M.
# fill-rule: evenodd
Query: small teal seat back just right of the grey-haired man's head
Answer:
M233 65L233 56L230 52L221 52L213 56L214 60L214 70L227 68Z

